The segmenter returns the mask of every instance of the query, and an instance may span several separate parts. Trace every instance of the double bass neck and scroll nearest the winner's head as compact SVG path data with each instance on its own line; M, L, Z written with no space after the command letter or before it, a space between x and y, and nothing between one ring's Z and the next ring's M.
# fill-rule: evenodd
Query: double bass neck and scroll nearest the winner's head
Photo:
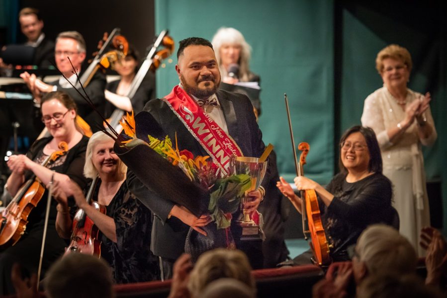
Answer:
M135 95L147 72L149 70L155 72L162 65L162 61L171 56L171 54L174 52L174 40L171 36L168 35L168 33L168 30L163 30L157 37L157 40L155 41L152 48L149 50L149 53L146 56L143 64L141 65L137 74L135 74L132 83L130 84L129 91L125 95L128 98L132 98ZM157 51L157 48L160 46L163 46L164 48ZM110 118L107 120L107 122L110 124L111 127L113 127L116 132L120 132L122 130L119 122L123 118L123 116L123 110L115 109ZM105 123L104 127L106 129L108 128Z

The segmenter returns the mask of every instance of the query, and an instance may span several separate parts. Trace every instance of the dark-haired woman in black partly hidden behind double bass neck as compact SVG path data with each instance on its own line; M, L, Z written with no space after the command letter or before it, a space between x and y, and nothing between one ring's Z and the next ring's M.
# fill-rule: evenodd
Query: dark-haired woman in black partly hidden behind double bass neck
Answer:
M113 63L114 70L121 76L120 79L108 82L105 86L104 96L107 99L105 107L106 117L110 117L118 108L127 112L138 114L144 105L151 99L153 91L153 74L148 72L132 98L127 97L133 79L137 73L138 53L129 48L126 57Z

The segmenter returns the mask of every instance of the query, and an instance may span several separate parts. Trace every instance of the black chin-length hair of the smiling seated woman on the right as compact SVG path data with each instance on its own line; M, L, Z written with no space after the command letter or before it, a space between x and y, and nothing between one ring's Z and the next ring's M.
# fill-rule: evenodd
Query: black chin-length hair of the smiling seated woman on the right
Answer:
M380 153L379 143L377 142L377 138L375 136L374 131L369 127L364 126L353 126L349 128L340 139L340 149L341 144L343 144L351 134L359 132L366 140L366 146L369 150L369 164L368 171L374 173L382 173L382 154ZM343 165L342 162L342 154L339 154L339 167L342 172L347 172L348 170Z

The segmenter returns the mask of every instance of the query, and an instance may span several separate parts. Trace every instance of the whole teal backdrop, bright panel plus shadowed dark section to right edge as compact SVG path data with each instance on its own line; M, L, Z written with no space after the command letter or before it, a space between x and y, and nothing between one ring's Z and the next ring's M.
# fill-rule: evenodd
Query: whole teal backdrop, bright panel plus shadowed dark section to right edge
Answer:
M278 155L280 173L294 177L284 105L287 93L295 142L308 142L306 174L327 183L337 172L338 140L358 125L363 101L382 86L375 57L391 43L413 57L409 87L430 91L438 141L425 148L427 178L442 185L439 214L447 214L447 32L444 1L156 0L156 33L179 40L212 39L221 26L240 30L253 47L251 69L261 76L264 141ZM157 71L157 95L179 82L176 58ZM447 226L444 216L444 227ZM446 230L445 230L446 232Z

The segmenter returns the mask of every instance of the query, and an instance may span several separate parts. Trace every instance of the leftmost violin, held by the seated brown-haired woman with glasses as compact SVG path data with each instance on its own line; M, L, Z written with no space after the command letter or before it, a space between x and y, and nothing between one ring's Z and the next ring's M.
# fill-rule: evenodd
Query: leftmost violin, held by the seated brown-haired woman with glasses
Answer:
M59 143L59 151L54 151L42 163L42 166L54 163L68 151L66 142ZM37 206L45 192L45 185L34 174L19 189L12 201L3 210L0 219L0 246L14 245L23 235L28 223L28 216Z

